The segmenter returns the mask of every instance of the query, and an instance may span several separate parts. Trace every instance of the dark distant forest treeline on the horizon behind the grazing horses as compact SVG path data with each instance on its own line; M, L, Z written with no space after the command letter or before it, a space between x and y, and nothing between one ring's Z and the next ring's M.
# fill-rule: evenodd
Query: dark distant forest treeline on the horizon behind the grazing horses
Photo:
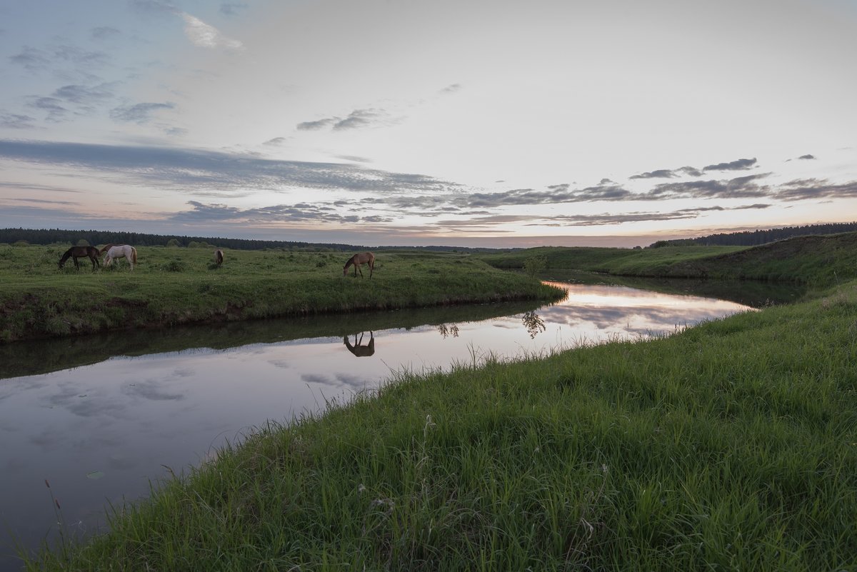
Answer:
M147 235L139 232L115 232L111 230L63 230L63 229L0 229L0 244L68 244L87 241L91 246L99 244L131 244L135 247L173 246L180 247L221 247L238 250L265 250L266 248L284 248L288 250L314 250L347 252L366 247L353 244L317 243L299 241L260 241L246 238L213 238L211 236ZM174 241L174 242L171 242ZM470 247L397 247L402 250L438 250L445 252L493 252L494 248Z

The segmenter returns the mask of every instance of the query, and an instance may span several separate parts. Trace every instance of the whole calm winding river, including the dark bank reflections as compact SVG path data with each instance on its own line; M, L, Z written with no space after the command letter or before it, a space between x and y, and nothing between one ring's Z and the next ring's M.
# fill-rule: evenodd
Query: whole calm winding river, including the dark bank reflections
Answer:
M15 544L53 543L60 527L67 537L104 530L110 504L146 497L152 483L266 420L320 414L394 372L650 337L799 295L602 281L552 282L569 294L544 307L355 313L0 346L0 570L20 569Z

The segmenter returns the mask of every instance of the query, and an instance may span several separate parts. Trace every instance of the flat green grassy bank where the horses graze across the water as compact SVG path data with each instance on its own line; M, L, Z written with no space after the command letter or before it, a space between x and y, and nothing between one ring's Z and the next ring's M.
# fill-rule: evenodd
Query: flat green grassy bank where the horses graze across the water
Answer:
M555 300L557 289L455 253L378 253L375 275L342 276L347 255L141 247L92 271L66 247L0 247L0 343L126 328L514 300ZM353 268L350 269L353 271Z

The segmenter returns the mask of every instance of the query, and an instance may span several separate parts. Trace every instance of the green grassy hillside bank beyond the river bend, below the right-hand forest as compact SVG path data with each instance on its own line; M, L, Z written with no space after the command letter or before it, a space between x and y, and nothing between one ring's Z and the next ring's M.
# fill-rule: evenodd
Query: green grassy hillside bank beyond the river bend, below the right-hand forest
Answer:
M524 268L541 258L548 268L624 276L739 278L830 285L857 277L857 233L798 236L759 247L539 247L478 254L498 268Z

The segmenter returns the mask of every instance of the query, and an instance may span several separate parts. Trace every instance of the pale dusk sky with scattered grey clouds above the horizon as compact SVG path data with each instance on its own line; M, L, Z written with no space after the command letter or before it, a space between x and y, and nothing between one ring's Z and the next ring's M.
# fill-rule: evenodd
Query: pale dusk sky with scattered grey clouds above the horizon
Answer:
M0 227L648 246L857 220L857 0L3 0Z

